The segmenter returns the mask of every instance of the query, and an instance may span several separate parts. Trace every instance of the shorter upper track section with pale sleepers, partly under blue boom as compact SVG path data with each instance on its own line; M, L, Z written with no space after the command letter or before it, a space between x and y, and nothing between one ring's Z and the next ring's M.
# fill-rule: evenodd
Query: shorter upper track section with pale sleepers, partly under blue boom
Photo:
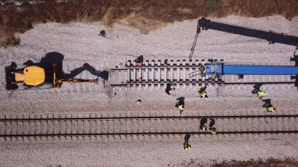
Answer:
M238 80L235 75L224 75L222 78L206 78L200 75L200 62L195 61L173 61L163 63L158 61L146 61L143 66L135 62L126 62L125 68L114 68L110 70L109 84L112 87L127 88L165 88L167 84L179 88L188 86L198 87L199 84L218 88L229 85L269 85L270 88L293 88L295 81L286 75L246 75L244 79ZM284 86L288 85L288 87ZM291 86L290 86L291 85Z

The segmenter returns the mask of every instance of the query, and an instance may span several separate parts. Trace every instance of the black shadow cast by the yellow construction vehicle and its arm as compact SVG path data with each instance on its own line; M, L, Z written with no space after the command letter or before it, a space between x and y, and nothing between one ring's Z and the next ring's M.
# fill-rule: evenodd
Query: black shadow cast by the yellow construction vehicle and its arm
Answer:
M31 60L29 60L24 64L25 65L47 64L47 65L50 66L51 64L56 63L58 65L57 74L58 74L60 79L74 78L76 75L78 75L81 72L87 70L92 75L95 75L99 78L103 78L106 81L108 80L108 72L107 71L98 71L88 63L84 63L82 66L72 70L70 73L64 73L63 72L63 59L64 59L64 55L62 55L61 53L49 52L44 57L42 57L42 59L39 63L33 63Z

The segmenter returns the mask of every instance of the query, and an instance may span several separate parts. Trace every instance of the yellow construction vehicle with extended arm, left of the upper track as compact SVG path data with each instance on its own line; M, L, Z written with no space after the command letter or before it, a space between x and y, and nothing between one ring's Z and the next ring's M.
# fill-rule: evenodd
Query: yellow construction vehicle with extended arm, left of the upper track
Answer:
M12 63L5 67L6 89L24 90L32 87L58 88L63 83L98 83L96 80L63 79L58 76L58 65L19 65Z

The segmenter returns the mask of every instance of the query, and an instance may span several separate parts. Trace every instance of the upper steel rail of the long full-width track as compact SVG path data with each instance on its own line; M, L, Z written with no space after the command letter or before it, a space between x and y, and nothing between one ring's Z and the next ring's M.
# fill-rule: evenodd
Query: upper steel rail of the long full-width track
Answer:
M297 118L298 115L239 115L239 116L172 116L172 117L113 117L113 118L44 118L44 119L0 119L0 122L22 122L22 121L99 121L99 120L144 120L144 119L236 119L236 118Z

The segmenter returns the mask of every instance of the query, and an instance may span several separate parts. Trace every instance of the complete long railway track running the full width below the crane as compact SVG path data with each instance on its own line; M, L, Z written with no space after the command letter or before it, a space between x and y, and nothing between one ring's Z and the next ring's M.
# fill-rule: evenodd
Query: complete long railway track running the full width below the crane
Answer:
M217 135L294 134L298 133L298 115L262 116L140 116L137 117L26 117L0 119L0 138L3 141L26 141L28 138L54 137L132 137L168 138L169 135L212 135L199 129L214 119ZM216 135L216 136L217 136ZM87 139L88 140L88 139Z

